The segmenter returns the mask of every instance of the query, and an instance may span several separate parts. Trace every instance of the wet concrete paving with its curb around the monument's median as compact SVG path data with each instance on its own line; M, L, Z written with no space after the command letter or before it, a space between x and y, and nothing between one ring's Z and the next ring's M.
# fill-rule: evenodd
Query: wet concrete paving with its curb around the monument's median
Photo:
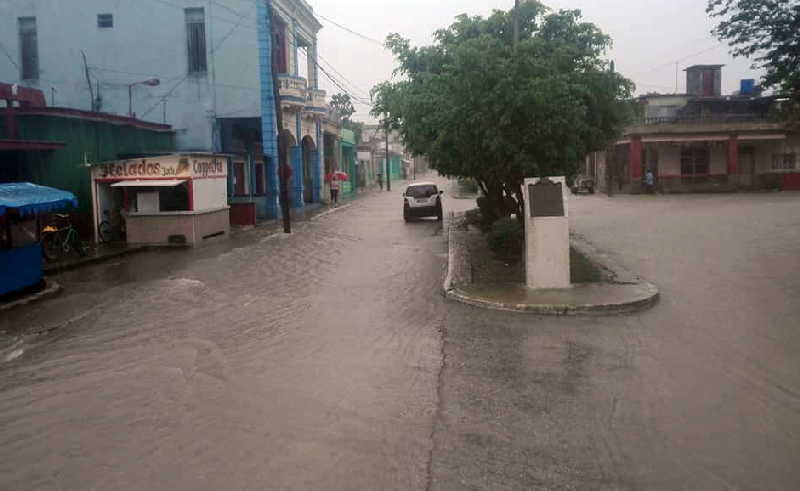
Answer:
M519 265L503 268L499 261L492 262L500 266L492 266L475 257L475 244L484 240L479 232L469 231L461 217L451 217L446 297L476 307L540 315L622 314L646 309L658 300L655 285L614 264L579 235L571 236L571 247L600 269L599 281L550 290L527 288Z

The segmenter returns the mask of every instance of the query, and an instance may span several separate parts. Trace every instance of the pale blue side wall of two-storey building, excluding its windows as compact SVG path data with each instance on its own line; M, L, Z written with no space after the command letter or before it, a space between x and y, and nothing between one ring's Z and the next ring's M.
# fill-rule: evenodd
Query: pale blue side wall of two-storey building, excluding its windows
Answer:
M187 74L183 8L194 7L205 8L208 73L203 75ZM179 150L208 151L215 116L260 116L255 9L255 1L242 0L1 0L0 44L19 64L17 19L36 17L40 80L26 85L44 91L48 104L56 88L56 106L91 109L82 50L93 89L100 83L104 112L127 114L127 85L159 78L158 87L134 88L137 117L162 122L166 97L166 122L178 132ZM113 28L97 27L100 13L113 14ZM0 53L0 81L22 83L19 76Z

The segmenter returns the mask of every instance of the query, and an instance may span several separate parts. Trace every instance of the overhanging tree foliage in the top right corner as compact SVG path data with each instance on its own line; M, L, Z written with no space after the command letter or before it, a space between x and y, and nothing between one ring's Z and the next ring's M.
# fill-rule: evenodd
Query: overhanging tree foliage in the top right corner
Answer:
M765 70L762 83L790 97L800 113L800 0L709 0L707 12L720 19L713 33L734 56L752 58Z

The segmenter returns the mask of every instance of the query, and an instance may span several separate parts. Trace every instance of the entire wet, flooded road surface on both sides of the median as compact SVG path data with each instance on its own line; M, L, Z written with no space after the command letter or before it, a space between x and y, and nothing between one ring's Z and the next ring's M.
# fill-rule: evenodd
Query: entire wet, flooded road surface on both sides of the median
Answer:
M571 206L654 309L446 303L441 228L399 191L61 275L0 318L28 334L0 489L796 489L800 195Z

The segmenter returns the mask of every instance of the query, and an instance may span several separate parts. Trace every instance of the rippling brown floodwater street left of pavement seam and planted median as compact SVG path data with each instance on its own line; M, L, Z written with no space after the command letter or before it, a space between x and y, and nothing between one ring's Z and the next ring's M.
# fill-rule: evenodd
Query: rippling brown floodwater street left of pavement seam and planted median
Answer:
M0 369L0 488L424 488L446 244L400 192L4 317L62 327Z

